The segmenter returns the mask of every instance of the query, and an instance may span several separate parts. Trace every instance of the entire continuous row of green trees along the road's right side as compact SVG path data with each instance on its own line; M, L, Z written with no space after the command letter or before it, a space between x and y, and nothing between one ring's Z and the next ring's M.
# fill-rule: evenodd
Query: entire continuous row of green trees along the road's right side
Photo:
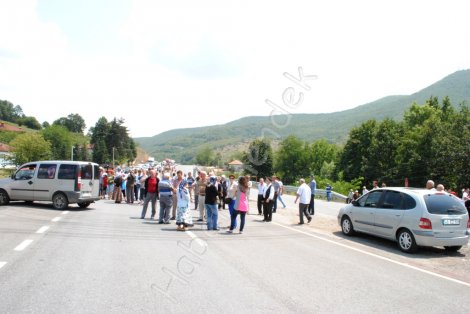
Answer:
M250 144L243 161L247 174L276 173L287 184L315 174L348 189L370 187L374 180L403 186L405 178L410 186L421 187L433 179L456 189L470 186L469 140L468 106L457 110L448 98L439 103L431 97L424 105L412 104L402 121L369 120L353 128L343 148L289 136L274 153L264 138Z

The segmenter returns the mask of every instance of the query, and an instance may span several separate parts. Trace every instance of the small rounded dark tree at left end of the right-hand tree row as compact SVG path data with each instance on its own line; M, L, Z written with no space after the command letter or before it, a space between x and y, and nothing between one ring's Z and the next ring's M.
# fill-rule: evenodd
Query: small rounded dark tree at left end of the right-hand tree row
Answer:
M268 139L252 141L248 150L243 153L242 161L245 172L259 178L273 174L273 149Z

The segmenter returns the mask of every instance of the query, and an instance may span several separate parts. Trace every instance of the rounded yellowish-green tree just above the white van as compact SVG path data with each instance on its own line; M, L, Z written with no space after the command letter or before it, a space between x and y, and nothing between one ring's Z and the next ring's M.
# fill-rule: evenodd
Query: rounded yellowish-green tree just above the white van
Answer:
M17 165L33 160L48 160L51 156L51 144L39 133L18 135L10 145L13 147L13 161Z

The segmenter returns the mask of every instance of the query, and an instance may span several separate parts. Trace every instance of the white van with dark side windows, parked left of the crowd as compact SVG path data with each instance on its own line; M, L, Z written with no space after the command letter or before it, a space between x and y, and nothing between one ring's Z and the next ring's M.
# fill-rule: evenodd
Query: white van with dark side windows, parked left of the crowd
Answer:
M52 201L56 209L99 200L99 166L86 161L33 161L0 180L0 205L10 201Z

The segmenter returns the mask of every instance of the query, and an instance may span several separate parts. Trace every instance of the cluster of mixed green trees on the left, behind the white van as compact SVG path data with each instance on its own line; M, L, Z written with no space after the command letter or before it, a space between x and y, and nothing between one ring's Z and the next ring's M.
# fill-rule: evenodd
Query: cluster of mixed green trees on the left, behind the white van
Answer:
M2 101L0 112L6 121L23 115L21 107ZM24 115L23 115L24 116ZM0 139L13 147L12 161L22 164L31 160L85 160L99 164L121 164L133 161L137 155L134 140L129 136L123 119L110 122L102 117L87 135L85 120L79 114L70 114L44 122L38 132L2 132Z

